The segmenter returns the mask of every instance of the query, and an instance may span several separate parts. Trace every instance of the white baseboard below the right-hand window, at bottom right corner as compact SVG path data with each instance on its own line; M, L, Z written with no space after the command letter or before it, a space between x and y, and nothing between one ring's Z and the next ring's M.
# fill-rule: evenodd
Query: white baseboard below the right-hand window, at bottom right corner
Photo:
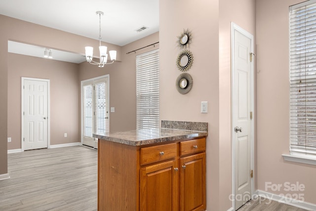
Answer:
M256 195L269 199L269 200L273 200L279 203L283 203L286 205L291 205L297 208L301 208L301 209L305 209L308 211L315 211L316 210L316 204L313 203L309 203L309 202L304 202L304 201L299 201L296 199L291 199L288 197L281 197L280 195L276 195L274 193L269 193L263 190L256 190Z

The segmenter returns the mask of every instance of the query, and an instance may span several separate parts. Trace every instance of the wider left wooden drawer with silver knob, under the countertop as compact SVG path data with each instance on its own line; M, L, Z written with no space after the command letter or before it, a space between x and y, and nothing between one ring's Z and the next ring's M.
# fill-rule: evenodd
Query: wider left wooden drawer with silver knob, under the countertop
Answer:
M155 163L171 158L177 155L176 143L163 144L140 149L140 165Z

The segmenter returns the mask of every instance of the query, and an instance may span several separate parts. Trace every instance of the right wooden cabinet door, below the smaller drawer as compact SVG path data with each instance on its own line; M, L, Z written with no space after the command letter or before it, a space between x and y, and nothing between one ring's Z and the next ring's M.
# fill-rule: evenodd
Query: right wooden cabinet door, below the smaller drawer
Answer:
M180 211L204 211L205 153L180 159Z

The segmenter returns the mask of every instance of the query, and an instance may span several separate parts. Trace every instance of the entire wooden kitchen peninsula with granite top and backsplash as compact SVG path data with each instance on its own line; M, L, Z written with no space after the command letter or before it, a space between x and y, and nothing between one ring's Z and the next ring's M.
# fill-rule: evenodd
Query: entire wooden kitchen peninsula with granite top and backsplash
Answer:
M98 210L205 210L207 134L207 123L174 121L94 134Z

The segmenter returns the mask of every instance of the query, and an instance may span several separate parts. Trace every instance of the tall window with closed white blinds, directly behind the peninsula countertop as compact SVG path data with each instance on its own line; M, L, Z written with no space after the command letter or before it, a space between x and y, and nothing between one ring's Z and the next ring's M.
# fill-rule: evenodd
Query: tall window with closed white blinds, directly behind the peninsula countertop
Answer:
M136 128L159 127L159 49L136 56Z

